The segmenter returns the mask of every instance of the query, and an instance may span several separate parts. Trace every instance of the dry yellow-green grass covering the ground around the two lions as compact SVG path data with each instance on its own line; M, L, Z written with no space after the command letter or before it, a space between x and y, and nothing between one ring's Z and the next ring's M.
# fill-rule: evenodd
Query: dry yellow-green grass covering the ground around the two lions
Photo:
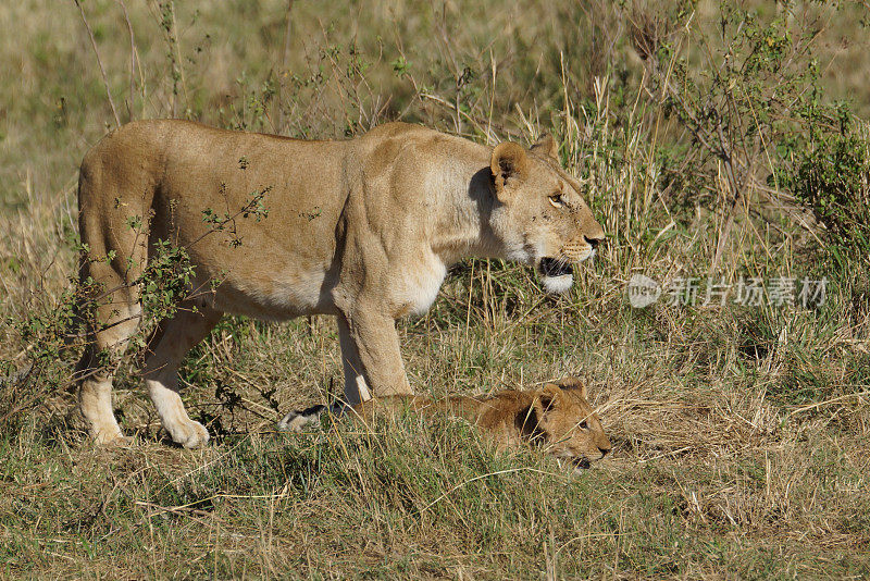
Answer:
M526 269L463 262L430 313L401 323L403 354L411 384L435 395L579 374L616 448L572 477L533 452L496 454L448 419L275 434L283 412L341 383L334 324L313 318L227 319L191 354L185 397L216 436L208 448L165 442L129 369L116 407L137 437L94 449L64 390L75 349L60 349L38 381L0 385L0 574L870 574L866 261L830 262L809 212L763 187L763 150L759 183L730 212L717 160L667 114L632 49L636 12L300 1L285 42L286 2L179 4L170 29L171 4L124 4L132 83L121 4L83 4L122 120L175 110L340 137L401 116L483 143L556 132L608 232L600 260L560 298ZM826 98L849 95L867 111L860 7L825 10L816 55ZM701 2L694 22L714 29L718 15ZM0 25L13 30L0 40L0 360L12 371L46 339L23 339L23 322L52 312L70 286L77 163L113 121L74 4L3 5ZM685 182L664 178L668 156L688 160L676 165ZM825 275L828 305L627 305L636 272L707 276L726 227L718 275Z

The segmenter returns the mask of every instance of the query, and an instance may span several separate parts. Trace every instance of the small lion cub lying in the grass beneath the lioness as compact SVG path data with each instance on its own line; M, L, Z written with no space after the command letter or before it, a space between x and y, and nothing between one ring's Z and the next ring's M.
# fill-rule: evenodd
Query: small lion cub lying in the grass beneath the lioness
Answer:
M402 408L424 415L447 412L476 424L499 448L537 445L575 469L585 469L611 448L586 395L583 382L564 378L536 390L509 390L487 397L456 396L434 400L419 395L390 395L352 407L336 404L330 412L353 413L362 421L375 413ZM301 412L291 411L278 423L278 430L302 431L318 423L326 410L325 406L314 406Z

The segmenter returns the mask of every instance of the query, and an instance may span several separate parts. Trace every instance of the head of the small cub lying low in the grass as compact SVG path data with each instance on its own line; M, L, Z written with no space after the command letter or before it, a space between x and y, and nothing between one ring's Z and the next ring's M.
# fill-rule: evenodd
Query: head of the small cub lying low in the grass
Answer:
M575 470L600 460L612 447L598 416L586 400L586 386L564 378L535 390L532 407L521 430L533 442Z

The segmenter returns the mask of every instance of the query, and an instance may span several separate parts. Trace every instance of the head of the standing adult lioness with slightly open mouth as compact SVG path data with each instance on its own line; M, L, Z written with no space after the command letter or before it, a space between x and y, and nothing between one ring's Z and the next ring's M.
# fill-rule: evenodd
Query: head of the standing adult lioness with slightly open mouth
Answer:
M568 290L572 264L592 258L605 232L559 165L556 141L546 135L531 149L499 144L489 169L497 198L490 226L507 258L534 264L548 293Z

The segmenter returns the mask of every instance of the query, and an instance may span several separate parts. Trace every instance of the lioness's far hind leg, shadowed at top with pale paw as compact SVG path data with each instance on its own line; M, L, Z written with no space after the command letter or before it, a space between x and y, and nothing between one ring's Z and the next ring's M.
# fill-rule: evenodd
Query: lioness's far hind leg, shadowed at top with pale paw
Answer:
M160 421L172 440L186 448L204 445L209 432L194 421L178 395L178 367L185 355L202 341L221 319L210 308L178 309L172 320L163 321L151 341L142 375Z

